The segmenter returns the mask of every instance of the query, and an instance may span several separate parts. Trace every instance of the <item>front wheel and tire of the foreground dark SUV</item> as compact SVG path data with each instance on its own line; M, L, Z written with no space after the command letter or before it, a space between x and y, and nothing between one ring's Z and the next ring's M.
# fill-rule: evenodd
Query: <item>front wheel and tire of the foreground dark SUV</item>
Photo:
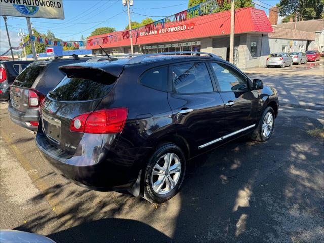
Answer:
M258 127L253 131L251 139L258 142L267 141L274 129L274 111L272 107L268 106L259 121Z

